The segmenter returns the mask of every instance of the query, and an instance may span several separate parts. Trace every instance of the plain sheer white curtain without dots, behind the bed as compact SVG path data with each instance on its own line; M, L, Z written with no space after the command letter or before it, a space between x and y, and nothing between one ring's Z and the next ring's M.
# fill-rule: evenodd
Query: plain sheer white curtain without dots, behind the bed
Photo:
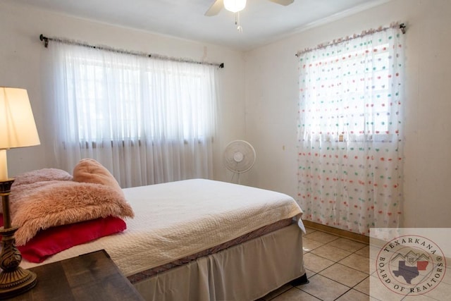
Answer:
M123 188L211 178L216 66L61 42L44 56L55 167L93 158Z

